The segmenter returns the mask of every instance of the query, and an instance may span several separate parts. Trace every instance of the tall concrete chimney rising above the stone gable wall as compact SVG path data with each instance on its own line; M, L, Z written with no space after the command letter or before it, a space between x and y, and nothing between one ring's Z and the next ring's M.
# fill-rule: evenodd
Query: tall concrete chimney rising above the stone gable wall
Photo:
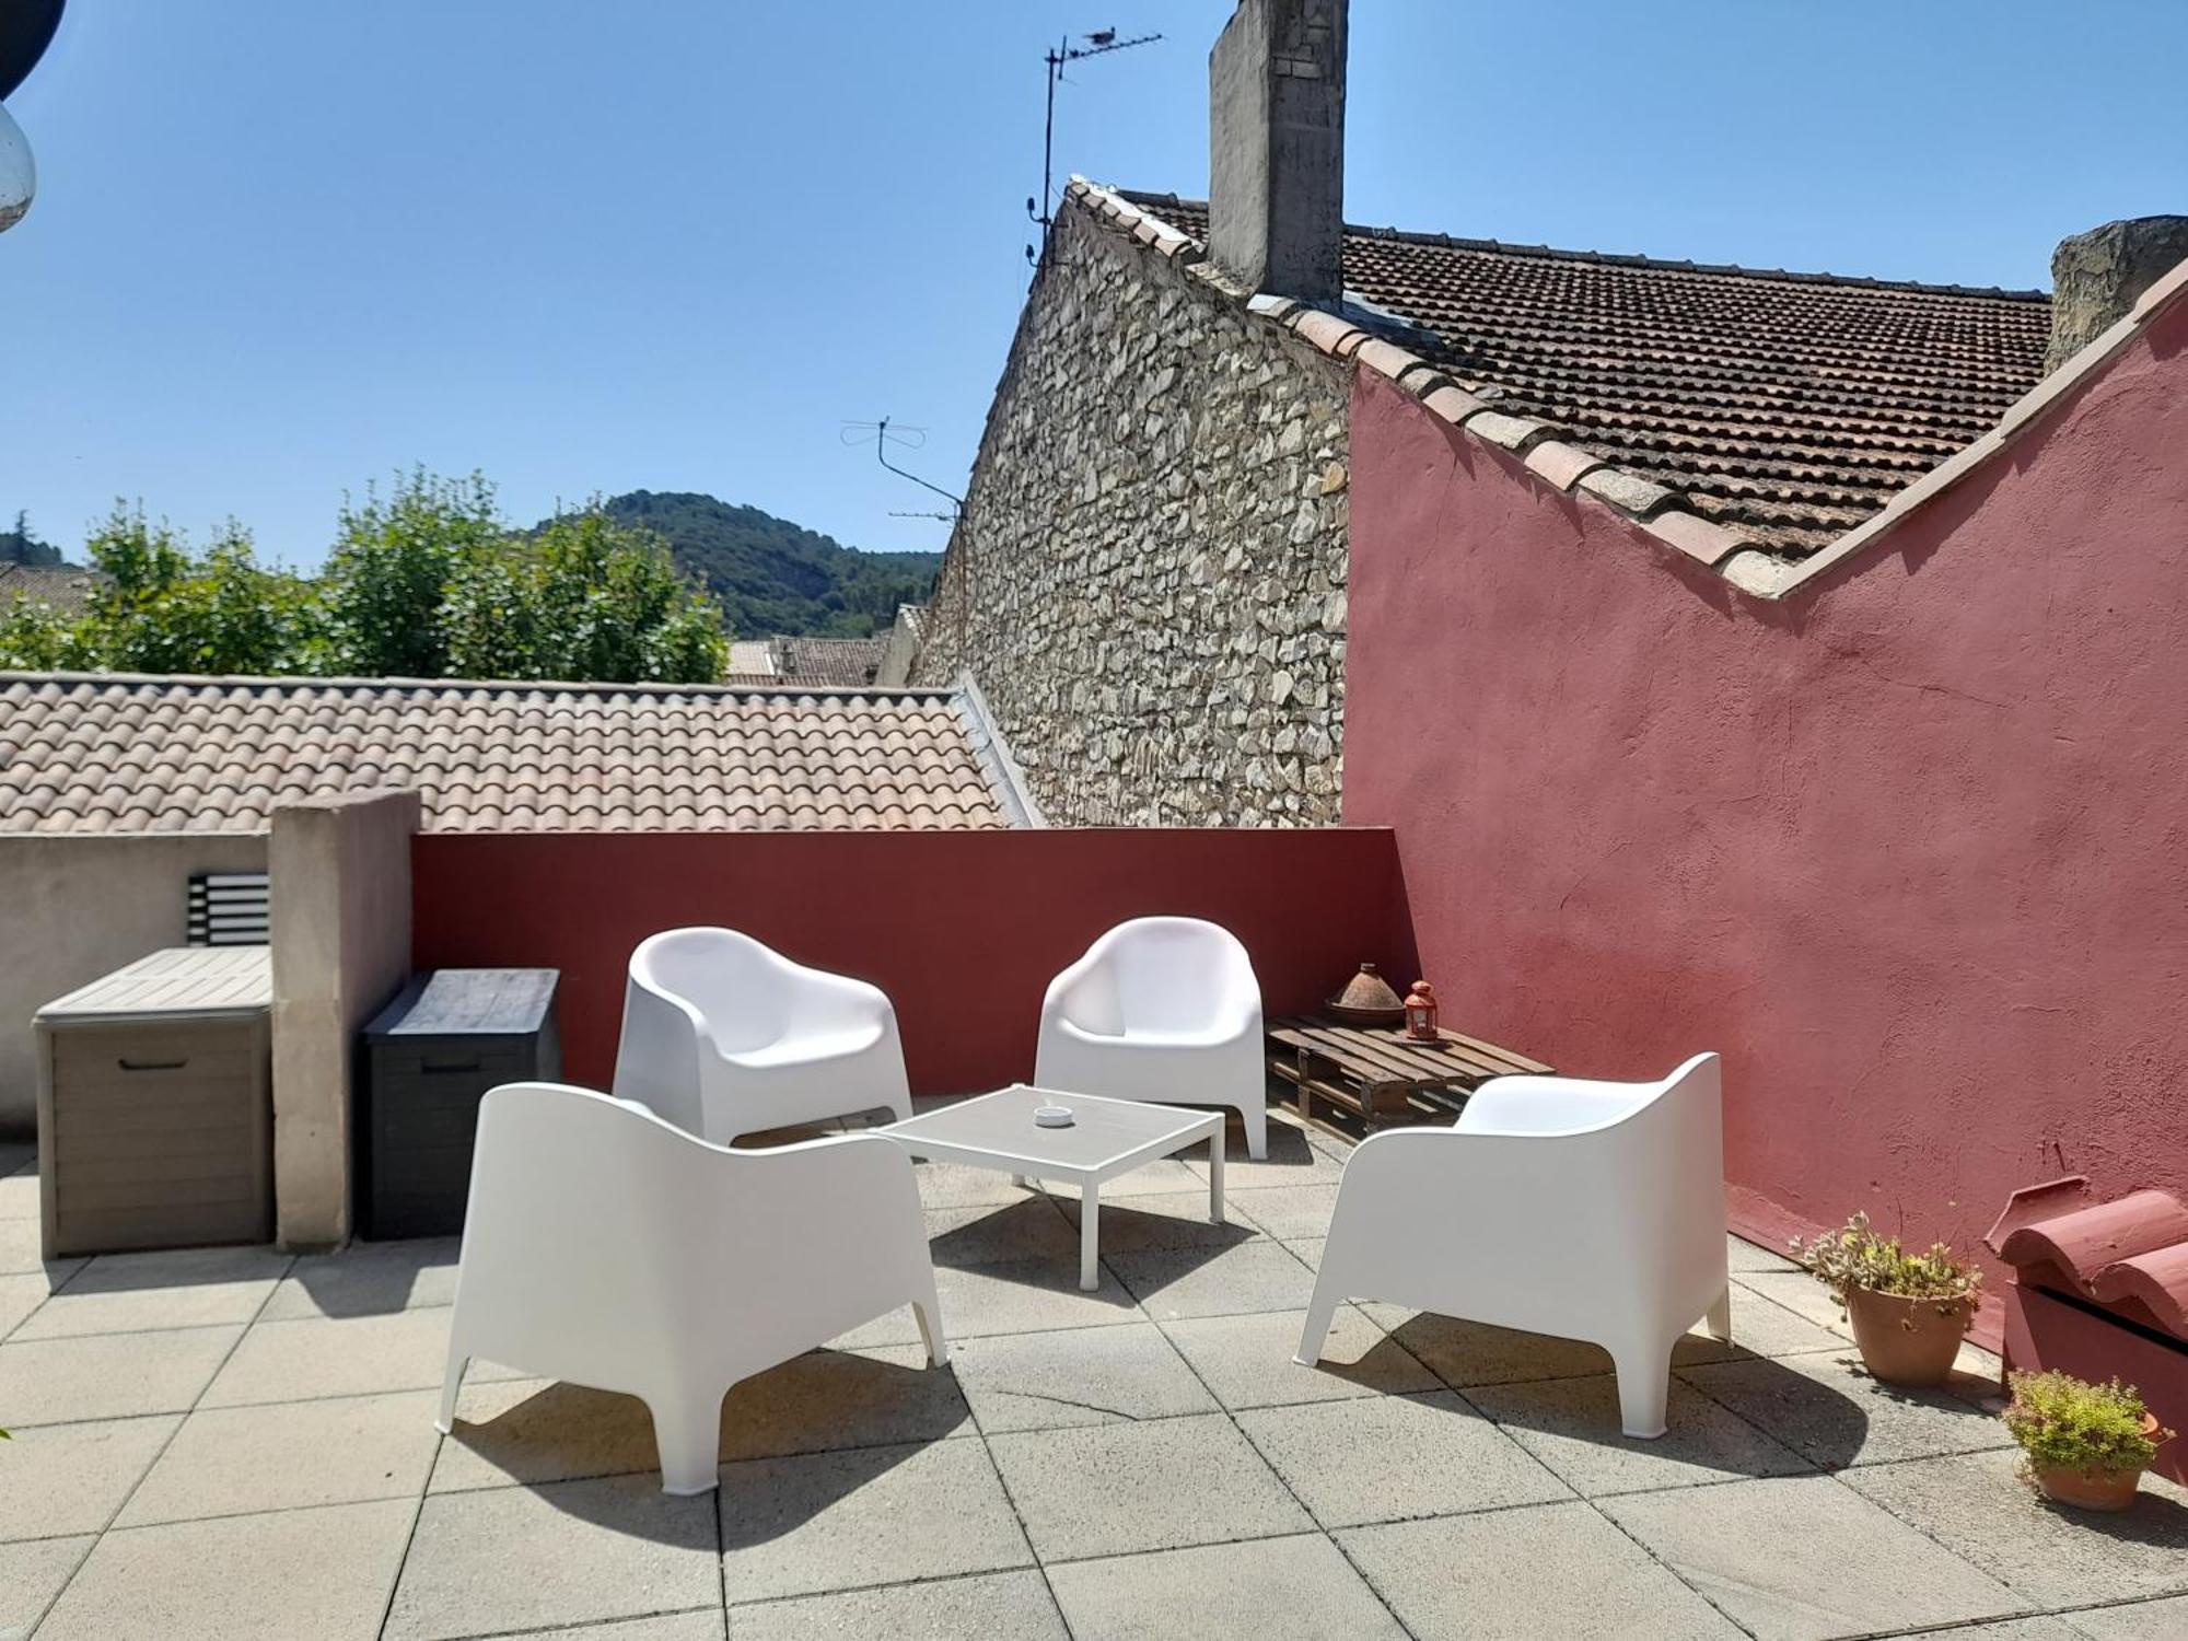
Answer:
M1343 295L1346 0L1238 0L1208 53L1208 252L1252 291Z

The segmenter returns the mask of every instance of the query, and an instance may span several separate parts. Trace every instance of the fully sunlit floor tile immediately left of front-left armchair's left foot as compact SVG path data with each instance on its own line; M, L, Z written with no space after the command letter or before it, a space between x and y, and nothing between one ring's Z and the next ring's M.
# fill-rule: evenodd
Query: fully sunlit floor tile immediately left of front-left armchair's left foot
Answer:
M416 1499L440 1431L431 1392L201 1407L129 1499L118 1527L368 1499Z

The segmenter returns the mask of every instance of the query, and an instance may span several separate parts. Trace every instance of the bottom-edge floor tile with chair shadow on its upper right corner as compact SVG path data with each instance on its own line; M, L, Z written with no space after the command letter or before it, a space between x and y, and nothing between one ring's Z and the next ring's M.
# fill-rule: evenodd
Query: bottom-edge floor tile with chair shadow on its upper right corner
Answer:
M650 1475L433 1494L385 1637L442 1641L709 1606L720 1593L713 1553L713 1501L672 1499Z

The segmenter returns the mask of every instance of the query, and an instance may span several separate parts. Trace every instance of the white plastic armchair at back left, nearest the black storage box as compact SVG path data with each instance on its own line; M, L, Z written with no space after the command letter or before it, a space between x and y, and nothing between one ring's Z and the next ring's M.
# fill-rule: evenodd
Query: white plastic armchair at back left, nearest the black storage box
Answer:
M630 954L615 1096L715 1144L875 1107L912 1114L880 987L726 928L667 930Z

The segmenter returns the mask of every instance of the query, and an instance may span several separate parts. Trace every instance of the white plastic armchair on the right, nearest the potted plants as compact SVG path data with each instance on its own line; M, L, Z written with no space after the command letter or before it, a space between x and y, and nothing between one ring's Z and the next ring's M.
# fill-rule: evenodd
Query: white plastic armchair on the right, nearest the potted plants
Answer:
M1346 1162L1300 1335L1389 1300L1610 1352L1626 1435L1663 1435L1672 1346L1731 1339L1715 1055L1661 1083L1499 1076L1457 1127L1389 1129Z

